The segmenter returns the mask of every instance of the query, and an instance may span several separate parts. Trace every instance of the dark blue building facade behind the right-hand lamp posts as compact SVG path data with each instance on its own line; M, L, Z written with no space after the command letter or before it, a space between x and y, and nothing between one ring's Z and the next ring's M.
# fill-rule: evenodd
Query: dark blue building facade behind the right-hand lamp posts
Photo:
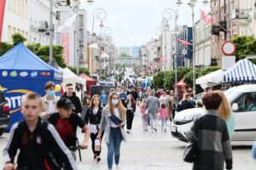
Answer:
M192 43L192 27L185 27L177 38ZM177 41L177 66L192 66L193 46L184 46Z

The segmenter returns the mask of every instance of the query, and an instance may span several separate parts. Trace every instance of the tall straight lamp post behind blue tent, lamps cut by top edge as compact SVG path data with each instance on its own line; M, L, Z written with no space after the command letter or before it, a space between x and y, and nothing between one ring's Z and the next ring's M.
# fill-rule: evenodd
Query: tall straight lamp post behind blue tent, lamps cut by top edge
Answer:
M54 25L53 25L53 1L49 0L49 65L53 66L53 36L54 36ZM78 4L79 0L73 0L74 3ZM87 0L87 3L93 3L94 0ZM62 6L67 4L67 0L60 0Z

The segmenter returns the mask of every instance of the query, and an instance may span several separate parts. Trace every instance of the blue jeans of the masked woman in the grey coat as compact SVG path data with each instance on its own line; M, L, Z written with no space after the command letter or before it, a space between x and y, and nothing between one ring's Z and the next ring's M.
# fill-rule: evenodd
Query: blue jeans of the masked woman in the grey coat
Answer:
M119 164L120 158L120 145L122 142L122 133L120 127L110 127L109 144L108 145L108 169L113 167L113 155L116 165Z

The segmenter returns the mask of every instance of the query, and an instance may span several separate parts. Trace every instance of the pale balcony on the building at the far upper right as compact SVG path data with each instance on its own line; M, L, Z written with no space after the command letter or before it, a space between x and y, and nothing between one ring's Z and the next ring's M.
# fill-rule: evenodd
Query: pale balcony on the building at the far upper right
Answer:
M232 21L240 25L247 25L249 23L249 11L250 9L236 8L232 12Z

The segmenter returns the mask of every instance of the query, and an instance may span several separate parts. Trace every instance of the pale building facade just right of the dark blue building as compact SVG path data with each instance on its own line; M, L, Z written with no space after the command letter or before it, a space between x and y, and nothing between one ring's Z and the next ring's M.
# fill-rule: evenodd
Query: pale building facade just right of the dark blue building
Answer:
M203 20L195 23L195 66L205 67L211 65L211 25L207 25Z

